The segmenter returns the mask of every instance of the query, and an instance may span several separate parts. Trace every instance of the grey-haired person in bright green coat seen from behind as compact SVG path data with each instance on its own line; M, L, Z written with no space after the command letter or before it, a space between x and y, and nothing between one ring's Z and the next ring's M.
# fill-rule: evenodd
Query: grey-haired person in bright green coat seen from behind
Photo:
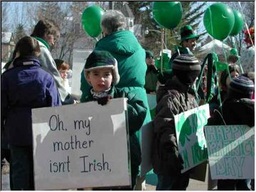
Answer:
M97 41L95 50L107 50L117 59L120 80L116 87L123 91L133 93L147 107L146 118L143 124L151 122L149 104L146 97L145 75L146 75L146 53L144 48L131 31L126 31L126 21L124 15L117 10L107 10L101 21L103 38ZM81 74L83 102L90 93L90 85ZM137 137L141 138L141 132L137 132ZM138 178L137 190L142 188L144 178Z

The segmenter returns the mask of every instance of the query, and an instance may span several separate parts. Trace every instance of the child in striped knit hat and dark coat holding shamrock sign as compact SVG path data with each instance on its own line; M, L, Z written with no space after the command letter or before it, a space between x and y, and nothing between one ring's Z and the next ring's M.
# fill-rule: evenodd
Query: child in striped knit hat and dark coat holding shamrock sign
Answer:
M174 76L156 92L156 116L152 144L152 166L157 174L156 191L185 191L189 171L181 174L183 159L178 152L174 116L198 107L195 96L189 93L196 82L201 65L197 58L181 54L172 64Z

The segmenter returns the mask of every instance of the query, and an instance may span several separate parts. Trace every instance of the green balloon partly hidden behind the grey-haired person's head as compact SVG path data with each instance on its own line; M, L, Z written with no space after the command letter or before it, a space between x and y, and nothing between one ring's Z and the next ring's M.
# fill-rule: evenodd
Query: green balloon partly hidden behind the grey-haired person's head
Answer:
M88 6L82 12L82 28L85 33L91 37L97 37L102 33L100 21L103 14L104 11L100 6Z

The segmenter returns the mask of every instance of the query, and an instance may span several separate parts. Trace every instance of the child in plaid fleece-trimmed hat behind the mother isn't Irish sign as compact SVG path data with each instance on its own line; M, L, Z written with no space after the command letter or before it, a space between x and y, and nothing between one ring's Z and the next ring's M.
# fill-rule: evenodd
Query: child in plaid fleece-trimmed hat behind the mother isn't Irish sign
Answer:
M119 82L117 60L105 50L94 50L88 56L84 75L90 88L89 94L84 97L83 102L97 101L100 105L107 105L107 102L112 98L127 97L132 187L120 188L120 190L132 190L139 174L139 165L142 162L136 132L142 127L146 117L146 105L136 94L115 87Z

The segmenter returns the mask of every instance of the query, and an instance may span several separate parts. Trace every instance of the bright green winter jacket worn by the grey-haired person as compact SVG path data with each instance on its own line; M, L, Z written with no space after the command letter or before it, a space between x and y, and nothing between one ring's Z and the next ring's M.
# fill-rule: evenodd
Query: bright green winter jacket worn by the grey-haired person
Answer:
M146 53L134 34L130 31L114 32L100 39L95 46L95 50L107 50L117 59L120 80L116 87L136 94L144 102L148 110L143 124L150 122L149 105L146 98L146 90L144 89ZM85 80L82 71L80 87L82 91L81 102L85 101L85 97L89 94L89 89L90 85Z

